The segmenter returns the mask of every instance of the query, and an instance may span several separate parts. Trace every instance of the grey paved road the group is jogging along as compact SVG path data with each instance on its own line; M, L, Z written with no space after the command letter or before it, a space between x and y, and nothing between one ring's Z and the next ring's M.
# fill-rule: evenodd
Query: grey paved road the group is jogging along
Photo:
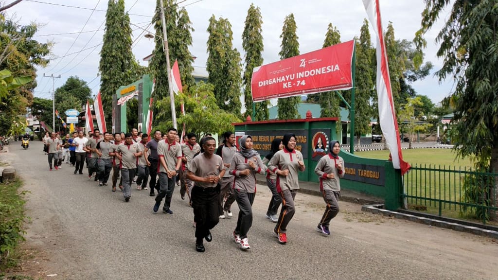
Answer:
M173 215L153 214L147 191L99 187L63 164L48 171L41 143L17 142L1 160L11 161L28 195L27 240L43 251L40 276L49 279L498 279L497 242L466 233L376 216L341 202L332 235L315 231L320 197L297 195L287 245L264 218L269 192L258 186L249 232L251 249L232 241L235 219L212 231L206 252L194 248L193 213L175 190ZM85 170L86 174L86 170ZM238 207L234 204L234 214Z

